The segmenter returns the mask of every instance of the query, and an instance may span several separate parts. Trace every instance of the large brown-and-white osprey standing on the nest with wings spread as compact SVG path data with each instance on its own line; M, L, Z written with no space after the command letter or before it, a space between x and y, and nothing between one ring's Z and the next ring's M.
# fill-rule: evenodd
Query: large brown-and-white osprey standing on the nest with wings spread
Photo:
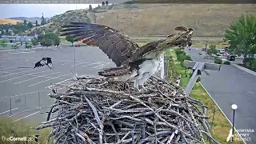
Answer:
M134 88L142 86L160 67L160 59L164 50L172 46L185 47L190 42L193 30L178 26L178 34L170 34L166 38L138 46L127 35L109 26L84 22L71 22L62 26L61 36L72 35L76 41L88 46L98 46L117 67L103 69L99 75L114 78L118 81L134 80Z

